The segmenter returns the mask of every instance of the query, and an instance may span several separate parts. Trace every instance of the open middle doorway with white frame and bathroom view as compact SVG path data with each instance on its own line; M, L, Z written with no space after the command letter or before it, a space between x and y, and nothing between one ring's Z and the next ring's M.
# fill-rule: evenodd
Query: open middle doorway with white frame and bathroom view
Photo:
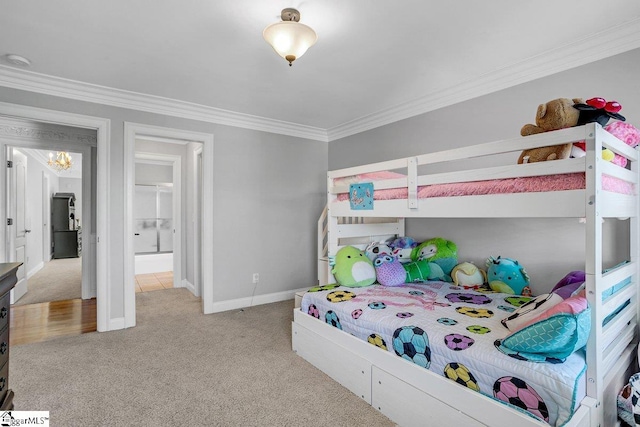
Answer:
M136 292L145 287L186 288L212 312L212 263L203 262L213 253L212 168L213 135L125 123L127 326L135 324ZM160 277L141 281L147 273Z

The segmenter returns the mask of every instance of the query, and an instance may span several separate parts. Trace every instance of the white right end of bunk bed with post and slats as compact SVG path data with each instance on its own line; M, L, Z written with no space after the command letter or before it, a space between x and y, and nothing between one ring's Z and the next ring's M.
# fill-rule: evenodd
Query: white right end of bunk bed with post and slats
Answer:
M606 426L615 422L615 414L606 414L606 406L628 379L629 372L636 372L632 365L638 344L638 285L640 277L640 248L638 243L639 210L635 206L630 213L629 260L603 272L602 221L611 217L608 206L601 202L602 171L606 168L599 153L607 134L595 127L587 132L587 188L586 210L586 293L591 306L591 334L587 343L587 396L592 400L591 425ZM631 162L631 172L638 185L637 157ZM605 214L603 214L605 213ZM622 379L622 380L621 380ZM615 397L614 397L615 399ZM595 410L594 410L595 409ZM613 418L611 418L613 417Z

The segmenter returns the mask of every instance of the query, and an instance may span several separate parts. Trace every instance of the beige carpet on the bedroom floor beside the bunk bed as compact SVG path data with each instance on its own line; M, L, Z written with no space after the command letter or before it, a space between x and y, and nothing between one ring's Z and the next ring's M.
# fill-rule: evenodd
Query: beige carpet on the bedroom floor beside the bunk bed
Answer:
M61 426L394 425L293 353L292 301L203 315L178 288L136 307L134 328L11 347L15 409Z

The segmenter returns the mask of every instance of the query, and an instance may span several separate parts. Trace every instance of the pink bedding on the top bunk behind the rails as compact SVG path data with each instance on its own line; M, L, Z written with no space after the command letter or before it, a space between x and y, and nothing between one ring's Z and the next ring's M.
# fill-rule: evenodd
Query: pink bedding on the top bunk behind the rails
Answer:
M404 178L405 175L382 171L365 173L345 179L337 179L335 184L352 184L357 182L379 181L383 179ZM434 184L418 187L418 198L476 196L485 194L535 193L543 191L580 190L585 188L585 175L582 172L530 176L522 178L492 179L486 181L457 182L450 184ZM602 189L621 194L634 194L633 184L602 175ZM374 200L406 199L407 188L375 190ZM338 200L349 200L348 193L338 194Z

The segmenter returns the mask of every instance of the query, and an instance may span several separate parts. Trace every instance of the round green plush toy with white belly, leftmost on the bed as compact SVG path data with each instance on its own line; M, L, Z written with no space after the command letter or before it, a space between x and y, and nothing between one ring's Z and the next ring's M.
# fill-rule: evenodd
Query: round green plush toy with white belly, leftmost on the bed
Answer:
M345 246L335 257L330 257L329 262L333 266L331 273L342 286L360 288L373 285L376 281L373 263L358 248Z

